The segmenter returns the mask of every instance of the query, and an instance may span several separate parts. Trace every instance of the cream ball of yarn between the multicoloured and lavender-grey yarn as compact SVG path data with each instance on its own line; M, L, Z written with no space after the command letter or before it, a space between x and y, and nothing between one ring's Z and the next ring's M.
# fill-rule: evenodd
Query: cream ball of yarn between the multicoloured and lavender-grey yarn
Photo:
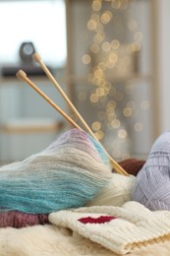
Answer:
M85 206L122 206L131 200L135 182L136 177L133 175L113 173L109 184Z

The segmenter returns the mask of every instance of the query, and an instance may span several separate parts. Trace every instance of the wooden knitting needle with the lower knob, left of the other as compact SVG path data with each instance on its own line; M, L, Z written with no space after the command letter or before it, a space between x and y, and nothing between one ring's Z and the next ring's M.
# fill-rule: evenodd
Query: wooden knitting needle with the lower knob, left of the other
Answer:
M83 130L72 118L70 118L57 104L54 103L48 96L46 96L40 89L38 89L27 77L27 74L23 70L19 70L16 76L28 83L28 85L34 89L40 96L42 96L53 108L55 108L63 117L68 120L74 127Z

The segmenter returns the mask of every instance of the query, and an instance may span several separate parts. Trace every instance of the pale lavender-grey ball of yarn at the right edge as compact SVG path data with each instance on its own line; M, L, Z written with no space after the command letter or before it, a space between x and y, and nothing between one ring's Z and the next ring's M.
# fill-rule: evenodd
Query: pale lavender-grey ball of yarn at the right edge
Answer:
M161 134L137 175L132 200L151 211L170 210L170 132Z

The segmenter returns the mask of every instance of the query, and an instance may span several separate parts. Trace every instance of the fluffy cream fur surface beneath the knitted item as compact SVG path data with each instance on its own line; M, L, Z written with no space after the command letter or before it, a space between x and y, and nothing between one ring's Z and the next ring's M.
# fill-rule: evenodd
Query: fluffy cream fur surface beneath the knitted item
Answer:
M129 256L169 256L170 242L148 245ZM0 228L1 256L117 256L67 228L55 225Z

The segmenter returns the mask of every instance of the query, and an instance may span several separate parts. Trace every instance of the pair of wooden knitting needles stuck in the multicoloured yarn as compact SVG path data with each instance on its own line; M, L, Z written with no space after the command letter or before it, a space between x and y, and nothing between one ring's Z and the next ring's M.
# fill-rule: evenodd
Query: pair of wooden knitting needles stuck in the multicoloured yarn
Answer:
M42 58L40 57L40 55L38 53L34 53L32 55L32 59L37 62L40 67L42 68L42 70L44 71L44 73L46 74L46 76L48 77L48 79L53 83L53 85L55 86L55 88L58 90L58 92L61 94L61 96L64 97L64 99L66 100L66 102L69 104L69 106L71 107L71 109L75 112L75 114L77 115L77 117L81 120L82 124L85 127L85 130L92 136L92 138L97 141L99 144L100 142L98 141L98 139L96 138L96 136L94 135L94 133L91 131L91 129L89 128L89 126L86 124L85 119L82 117L82 115L79 113L79 111L77 110L77 108L74 106L74 104L72 103L72 101L69 99L69 97L64 93L64 91L62 90L62 88L59 86L59 84L57 83L57 81L55 80L55 78L53 77L53 75L50 73L49 69L46 67L46 65L43 63ZM81 129L83 130L70 116L68 116L56 103L54 103L53 100L51 100L48 96L46 96L40 89L38 89L29 79L27 74L23 71L23 70L19 70L16 74L16 76L27 82L28 85L34 90L36 91L36 93L38 93L40 96L42 96L53 108L55 108L67 121L69 121L75 128ZM102 146L103 148L103 146ZM104 149L104 148L103 148ZM105 154L107 155L107 157L110 160L110 163L112 165L112 167L116 170L116 172L126 175L128 176L129 174L126 172L126 170L124 168L122 168L122 166L120 164L118 164L118 162L116 160L113 160L109 154L106 152L106 150L104 149Z

